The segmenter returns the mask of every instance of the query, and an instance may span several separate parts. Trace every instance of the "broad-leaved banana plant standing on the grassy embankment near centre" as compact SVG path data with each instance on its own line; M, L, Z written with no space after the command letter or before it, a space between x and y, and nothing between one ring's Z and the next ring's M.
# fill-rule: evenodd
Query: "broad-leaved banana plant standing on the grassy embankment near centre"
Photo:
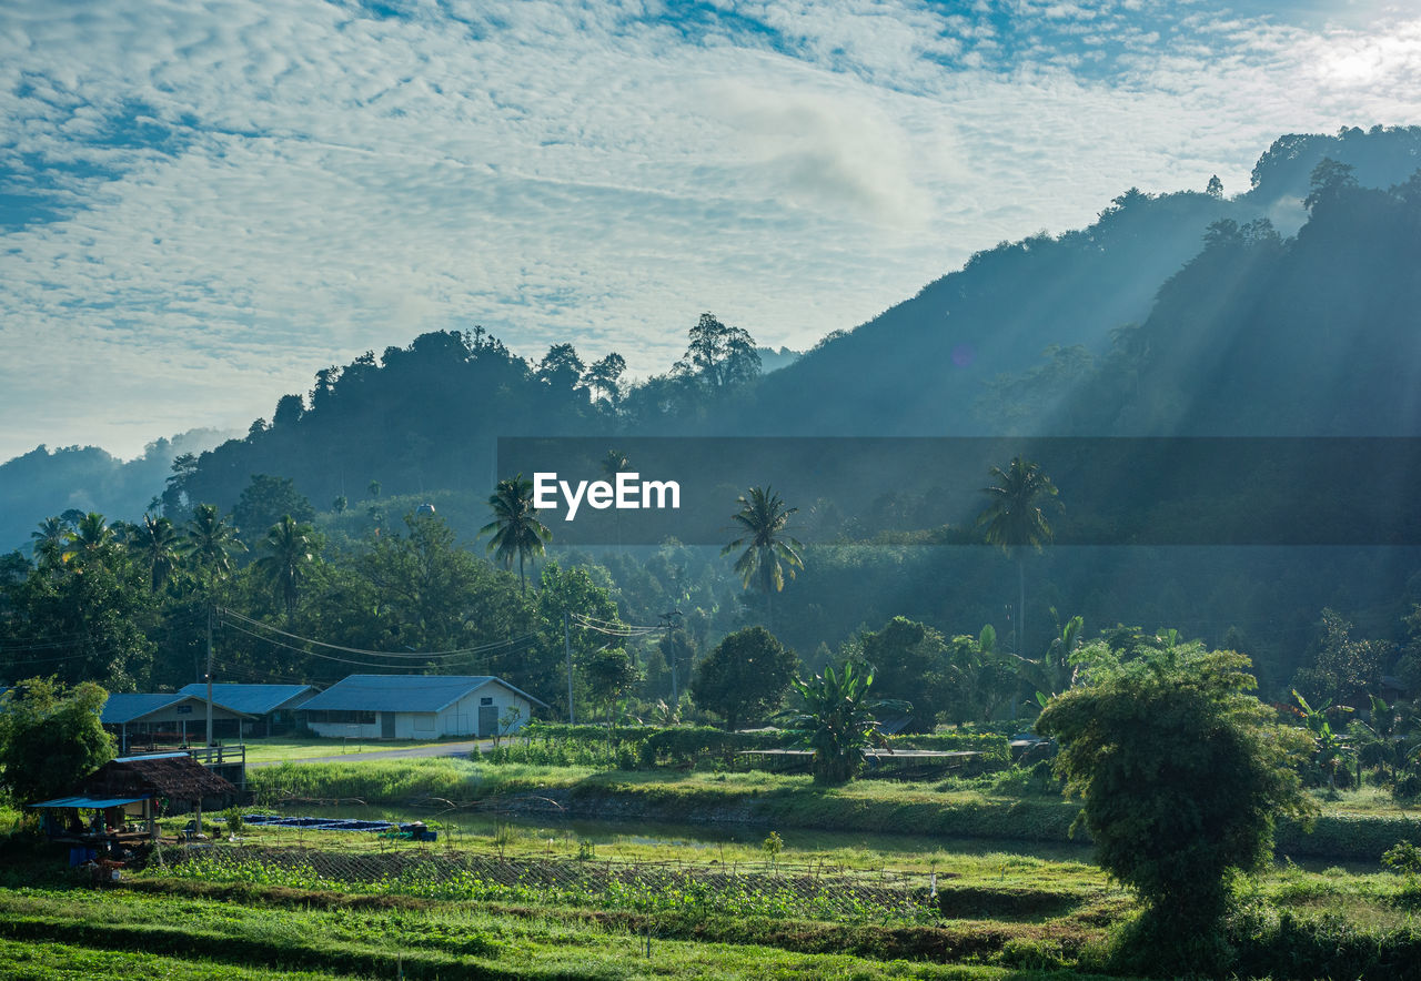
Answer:
M868 747L882 742L874 713L881 708L911 710L902 700L870 698L872 683L872 672L855 669L853 662L844 664L843 674L836 674L830 666L807 681L791 681L800 707L782 713L779 718L803 745L814 751L811 768L816 784L847 784L858 775Z

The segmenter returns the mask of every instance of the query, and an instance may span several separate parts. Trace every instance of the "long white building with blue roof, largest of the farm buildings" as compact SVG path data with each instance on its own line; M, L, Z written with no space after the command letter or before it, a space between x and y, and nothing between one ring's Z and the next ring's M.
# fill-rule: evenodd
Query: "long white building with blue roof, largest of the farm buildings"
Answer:
M533 717L534 706L549 707L487 674L351 674L301 711L317 735L435 740L512 733Z

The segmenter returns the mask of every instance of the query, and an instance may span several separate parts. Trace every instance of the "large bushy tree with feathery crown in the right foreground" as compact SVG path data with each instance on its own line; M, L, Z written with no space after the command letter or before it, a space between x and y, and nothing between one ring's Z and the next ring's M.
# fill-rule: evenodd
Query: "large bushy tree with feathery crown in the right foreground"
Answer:
M1228 879L1272 857L1276 815L1310 812L1249 669L1198 643L1103 657L1036 721L1060 742L1056 769L1084 801L1097 860L1145 903L1120 970L1225 974Z

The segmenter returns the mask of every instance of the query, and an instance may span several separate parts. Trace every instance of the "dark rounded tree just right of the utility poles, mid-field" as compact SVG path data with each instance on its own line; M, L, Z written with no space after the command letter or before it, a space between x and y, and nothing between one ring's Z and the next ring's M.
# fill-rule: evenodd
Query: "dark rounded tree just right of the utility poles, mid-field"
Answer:
M735 730L747 717L779 708L799 673L799 657L762 626L728 635L696 666L691 697L705 710L725 716Z

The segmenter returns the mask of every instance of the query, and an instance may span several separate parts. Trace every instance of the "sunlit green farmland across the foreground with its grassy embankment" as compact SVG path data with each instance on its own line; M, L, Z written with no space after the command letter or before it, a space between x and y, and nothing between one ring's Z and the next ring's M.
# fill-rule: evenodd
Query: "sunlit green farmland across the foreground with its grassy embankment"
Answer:
M11 975L1090 978L1137 911L1063 833L1076 805L1027 771L817 788L755 771L368 760L252 778L267 809L421 819L439 838L247 826L102 889L17 839L0 873ZM618 801L661 821L574 813ZM749 821L686 821L705 808ZM948 816L918 829L929 809ZM1410 822L1368 791L1329 819ZM1421 892L1376 859L1280 859L1235 892L1241 977L1390 978L1421 951Z

